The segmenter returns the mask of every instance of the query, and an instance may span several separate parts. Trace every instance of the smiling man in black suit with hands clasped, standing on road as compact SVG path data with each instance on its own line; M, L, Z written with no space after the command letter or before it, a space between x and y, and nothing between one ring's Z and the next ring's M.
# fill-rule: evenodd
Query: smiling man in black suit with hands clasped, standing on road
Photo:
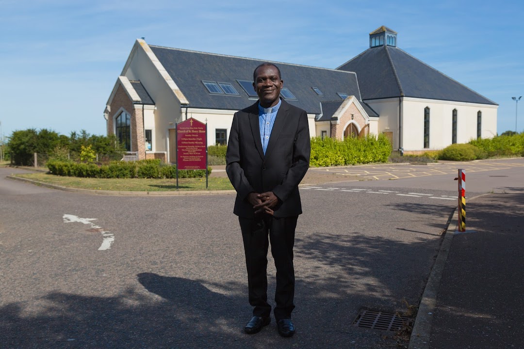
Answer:
M275 64L253 73L259 100L235 113L226 154L226 172L236 189L246 255L249 304L253 318L244 331L257 333L270 323L267 302L268 234L277 268L275 320L280 335L294 334L293 244L302 213L298 184L308 171L310 136L304 110L280 98L283 81Z

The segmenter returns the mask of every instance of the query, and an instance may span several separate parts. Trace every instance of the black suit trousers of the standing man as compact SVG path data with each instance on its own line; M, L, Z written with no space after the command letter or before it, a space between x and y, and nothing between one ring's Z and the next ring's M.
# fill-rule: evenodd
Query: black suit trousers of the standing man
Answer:
M253 316L268 317L271 306L267 302L267 251L271 242L271 254L277 269L275 291L275 319L290 319L294 309L294 232L298 217L275 218L269 215L239 217L244 252L246 255L249 304L254 307ZM269 235L269 241L268 241Z

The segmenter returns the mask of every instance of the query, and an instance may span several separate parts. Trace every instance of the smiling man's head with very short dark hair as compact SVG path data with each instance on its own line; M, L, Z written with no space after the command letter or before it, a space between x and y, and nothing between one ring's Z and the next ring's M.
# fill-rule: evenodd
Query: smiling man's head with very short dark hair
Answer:
M272 65L263 65L257 69L253 87L260 99L260 105L269 108L278 104L280 90L283 81L276 67Z

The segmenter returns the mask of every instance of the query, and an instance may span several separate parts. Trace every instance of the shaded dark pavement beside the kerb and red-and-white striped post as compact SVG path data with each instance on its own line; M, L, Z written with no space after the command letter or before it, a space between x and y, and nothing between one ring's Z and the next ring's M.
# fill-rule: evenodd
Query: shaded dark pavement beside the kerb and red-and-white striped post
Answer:
M433 266L410 349L524 348L524 188L466 202Z

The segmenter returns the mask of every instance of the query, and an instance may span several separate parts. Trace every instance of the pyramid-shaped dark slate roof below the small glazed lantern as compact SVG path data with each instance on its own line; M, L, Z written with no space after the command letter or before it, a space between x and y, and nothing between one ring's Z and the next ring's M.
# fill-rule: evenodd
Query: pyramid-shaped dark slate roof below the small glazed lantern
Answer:
M497 105L397 47L367 49L337 69L357 73L364 100L415 97Z

